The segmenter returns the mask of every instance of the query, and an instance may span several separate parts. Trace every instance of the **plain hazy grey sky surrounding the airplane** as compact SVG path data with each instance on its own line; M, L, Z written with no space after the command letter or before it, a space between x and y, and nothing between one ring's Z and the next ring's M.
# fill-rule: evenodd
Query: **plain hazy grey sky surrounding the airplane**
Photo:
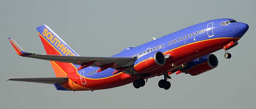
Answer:
M255 0L5 0L0 2L0 107L2 109L255 109ZM7 37L28 52L45 53L36 27L47 24L81 56L111 56L187 26L232 18L250 28L229 50L215 52L219 66L198 76L171 75L146 86L132 84L94 92L57 91L53 85L5 81L7 78L55 77L50 62L19 57Z

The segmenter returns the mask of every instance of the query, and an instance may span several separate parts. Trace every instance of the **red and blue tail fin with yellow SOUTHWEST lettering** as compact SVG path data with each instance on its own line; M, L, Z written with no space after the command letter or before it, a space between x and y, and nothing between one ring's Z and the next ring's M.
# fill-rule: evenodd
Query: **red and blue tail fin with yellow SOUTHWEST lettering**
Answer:
M37 33L43 43L47 54L63 56L79 56L69 45L66 44L56 33L47 25L37 27ZM75 72L78 65L64 62L50 61L56 77L65 77L71 72Z

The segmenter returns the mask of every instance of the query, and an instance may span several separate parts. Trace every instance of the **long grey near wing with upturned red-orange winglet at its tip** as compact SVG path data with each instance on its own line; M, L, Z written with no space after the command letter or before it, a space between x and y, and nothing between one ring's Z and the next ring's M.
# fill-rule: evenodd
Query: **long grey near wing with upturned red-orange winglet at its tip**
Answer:
M9 41L14 47L14 50L19 56L43 59L48 61L67 62L77 65L81 65L81 68L88 66L93 67L108 67L113 69L128 68L134 64L136 58L133 57L83 57L83 56L61 56L61 55L48 55L48 54L35 54L27 53L22 50L19 45L9 37ZM79 69L78 69L79 70Z

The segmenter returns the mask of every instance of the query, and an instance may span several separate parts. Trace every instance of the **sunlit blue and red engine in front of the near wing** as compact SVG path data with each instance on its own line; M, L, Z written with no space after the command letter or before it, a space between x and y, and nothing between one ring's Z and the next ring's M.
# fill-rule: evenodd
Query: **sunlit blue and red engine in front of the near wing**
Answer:
M140 55L134 62L134 69L138 73L153 70L155 67L165 65L165 56L160 51Z

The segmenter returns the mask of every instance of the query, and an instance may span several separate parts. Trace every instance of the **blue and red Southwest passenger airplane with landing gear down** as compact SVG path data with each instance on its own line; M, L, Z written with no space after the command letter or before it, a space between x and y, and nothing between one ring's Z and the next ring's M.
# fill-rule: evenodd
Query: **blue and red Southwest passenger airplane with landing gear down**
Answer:
M124 48L110 57L80 56L47 25L37 28L46 54L28 53L9 37L19 56L50 61L56 77L9 78L10 81L54 84L56 90L101 90L133 83L136 89L145 86L149 78L162 76L158 87L170 89L171 74L176 72L196 76L218 66L215 51L229 49L249 26L234 19L214 19L189 26L174 33L139 45ZM146 81L145 81L146 79Z

